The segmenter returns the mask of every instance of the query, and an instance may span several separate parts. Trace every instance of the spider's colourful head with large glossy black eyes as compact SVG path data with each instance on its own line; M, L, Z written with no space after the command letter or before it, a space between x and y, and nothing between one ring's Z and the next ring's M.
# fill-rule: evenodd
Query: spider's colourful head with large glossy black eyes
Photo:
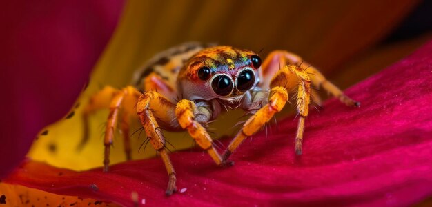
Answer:
M261 63L249 50L206 48L189 59L177 81L186 99L232 100L257 85Z

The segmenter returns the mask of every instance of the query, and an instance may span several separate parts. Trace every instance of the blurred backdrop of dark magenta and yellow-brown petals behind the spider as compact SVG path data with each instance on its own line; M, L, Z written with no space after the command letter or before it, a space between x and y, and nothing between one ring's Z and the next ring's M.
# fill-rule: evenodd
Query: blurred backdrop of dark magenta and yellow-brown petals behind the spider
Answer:
M3 8L2 83L10 101L1 103L8 112L0 157L17 157L10 166L33 140L32 159L75 170L101 166L106 110L90 119L91 139L76 150L88 97L105 85L126 86L147 59L185 41L263 49L262 57L289 50L344 89L432 37L431 1L17 1ZM133 124L131 133L139 127ZM230 135L211 128L215 137ZM150 146L138 151L144 137L132 137L134 159L155 155ZM193 143L186 133L167 137L177 150ZM112 163L125 160L122 144L117 135Z

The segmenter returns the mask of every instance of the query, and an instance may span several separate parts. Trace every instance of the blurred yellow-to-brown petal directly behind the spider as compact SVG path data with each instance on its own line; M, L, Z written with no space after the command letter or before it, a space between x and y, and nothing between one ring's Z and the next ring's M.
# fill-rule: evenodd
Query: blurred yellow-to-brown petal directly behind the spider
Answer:
M163 3L164 5L159 1L128 1L115 35L92 72L90 85L77 100L77 103L81 103L80 106L72 109L75 116L48 126L46 130L49 135L39 137L28 156L53 166L74 170L100 166L103 162L101 151L104 150L100 137L108 110L90 116L90 139L82 150L77 150L84 135L81 115L88 98L106 84L126 86L134 71L146 60L182 41L217 41L256 52L264 48L261 53L263 57L271 50L291 50L319 67L328 79L334 80L334 75L342 73L339 71L340 66L383 39L418 5L418 1L391 1L392 9L388 10L386 8L389 7L389 2L386 1L341 2L253 1L245 6L242 2L230 1L188 1L181 4ZM190 8L193 8L193 12ZM404 50L406 51L409 50ZM369 65L366 68L372 67ZM377 67L379 70L382 68ZM335 71L336 69L339 70ZM337 85L342 88L351 86L379 70L362 68L361 75L356 73L349 76L357 79L346 78L338 81ZM237 117L243 114L240 111L230 113L230 119L219 118L221 121L211 124L210 128L233 126ZM139 128L139 120L133 120L131 132ZM213 137L231 135L232 131L219 131ZM139 135L137 132L131 137L132 147L141 145ZM180 135L184 139L177 139L177 133L165 135L177 150L190 148L188 135ZM112 164L126 158L123 142L119 138L114 140L115 148L110 152ZM134 159L153 157L154 154L151 150L143 153L138 147L132 148Z

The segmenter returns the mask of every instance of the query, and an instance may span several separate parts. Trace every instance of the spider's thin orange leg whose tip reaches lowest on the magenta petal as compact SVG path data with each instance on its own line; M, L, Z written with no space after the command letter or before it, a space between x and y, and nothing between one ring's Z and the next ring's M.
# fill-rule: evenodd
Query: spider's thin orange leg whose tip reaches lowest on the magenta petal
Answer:
M166 195L172 195L177 190L177 187L175 186L175 170L165 149L164 135L162 135L161 128L157 124L155 116L150 109L150 101L157 101L159 102L158 105L161 106L166 105L167 103L164 101L168 100L166 100L158 92L145 92L138 99L137 113L139 119L141 120L142 126L144 126L144 130L146 131L148 139L150 139L150 143L152 144L153 148L159 152L162 161L164 161L166 171L168 172L168 187L166 189Z

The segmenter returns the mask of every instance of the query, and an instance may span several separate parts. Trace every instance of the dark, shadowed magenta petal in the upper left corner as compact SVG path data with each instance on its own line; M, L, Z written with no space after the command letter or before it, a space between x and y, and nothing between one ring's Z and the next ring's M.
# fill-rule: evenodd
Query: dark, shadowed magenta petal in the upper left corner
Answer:
M77 99L124 1L2 1L0 178Z

